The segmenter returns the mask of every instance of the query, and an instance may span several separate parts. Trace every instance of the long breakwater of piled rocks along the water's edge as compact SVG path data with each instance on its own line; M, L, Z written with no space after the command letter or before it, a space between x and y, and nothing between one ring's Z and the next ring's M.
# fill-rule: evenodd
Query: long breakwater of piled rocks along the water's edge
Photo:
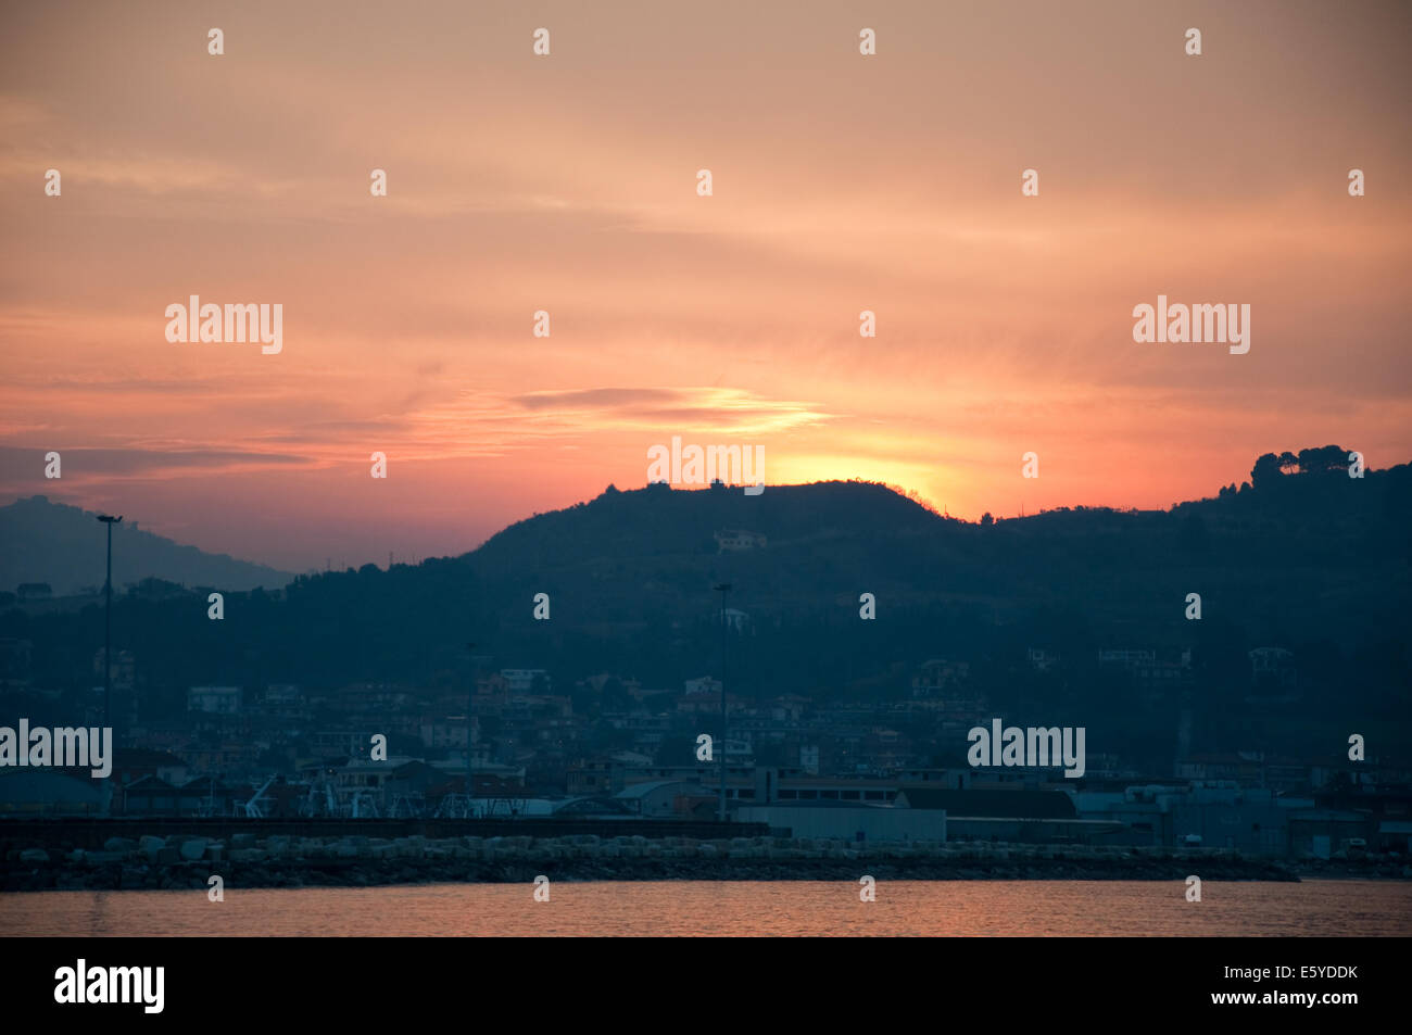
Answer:
M234 833L110 837L100 849L8 847L0 888L144 890L367 887L422 883L658 880L1185 880L1412 877L1384 857L1332 863L1252 858L1224 849L873 843L806 837L460 836L299 837Z

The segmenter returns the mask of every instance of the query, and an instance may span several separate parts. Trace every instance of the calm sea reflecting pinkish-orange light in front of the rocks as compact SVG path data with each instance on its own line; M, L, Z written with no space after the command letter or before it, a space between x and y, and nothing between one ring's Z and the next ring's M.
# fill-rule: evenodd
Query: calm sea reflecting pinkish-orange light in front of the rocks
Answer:
M0 895L17 935L1412 935L1412 883L555 883Z

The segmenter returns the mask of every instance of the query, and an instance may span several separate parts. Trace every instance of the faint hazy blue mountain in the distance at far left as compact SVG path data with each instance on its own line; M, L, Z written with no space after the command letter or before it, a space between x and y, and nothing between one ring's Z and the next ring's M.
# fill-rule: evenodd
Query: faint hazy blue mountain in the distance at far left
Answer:
M31 496L0 507L0 590L13 593L25 582L45 582L55 596L103 586L106 535L92 511ZM226 554L164 539L131 524L113 527L113 589L143 579L186 586L249 590L278 589L294 576Z

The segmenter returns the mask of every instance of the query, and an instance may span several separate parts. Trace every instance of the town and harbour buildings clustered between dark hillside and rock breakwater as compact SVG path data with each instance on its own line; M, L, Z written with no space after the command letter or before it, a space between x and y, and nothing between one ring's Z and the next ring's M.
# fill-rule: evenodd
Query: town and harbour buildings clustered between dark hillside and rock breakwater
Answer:
M0 644L4 665L23 665L20 655L23 645ZM1042 672L1060 658L1031 648L1028 662ZM1148 650L1106 650L1097 662L1138 688L1180 688L1190 668L1189 654ZM1252 651L1251 664L1252 679L1296 685L1288 652ZM141 714L133 671L130 655L114 657L110 786L78 771L0 771L0 816L713 819L724 770L731 819L795 836L1327 857L1406 851L1412 832L1412 767L1195 755L1180 746L1175 762L1154 767L1090 741L1099 751L1082 779L1056 768L971 768L966 731L993 713L966 661L926 661L890 700L730 695L724 738L722 686L710 675L654 689L600 674L568 692L541 668L438 688L189 686L179 713ZM88 724L99 707L100 695Z

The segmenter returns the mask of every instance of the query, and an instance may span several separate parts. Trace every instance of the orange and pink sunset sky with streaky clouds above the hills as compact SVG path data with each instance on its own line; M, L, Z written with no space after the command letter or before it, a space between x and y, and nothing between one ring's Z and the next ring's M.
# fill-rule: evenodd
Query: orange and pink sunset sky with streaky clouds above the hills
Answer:
M0 504L304 570L674 435L970 520L1412 460L1405 3L7 4L0 58ZM192 294L282 353L167 342ZM1250 353L1134 343L1159 294Z

